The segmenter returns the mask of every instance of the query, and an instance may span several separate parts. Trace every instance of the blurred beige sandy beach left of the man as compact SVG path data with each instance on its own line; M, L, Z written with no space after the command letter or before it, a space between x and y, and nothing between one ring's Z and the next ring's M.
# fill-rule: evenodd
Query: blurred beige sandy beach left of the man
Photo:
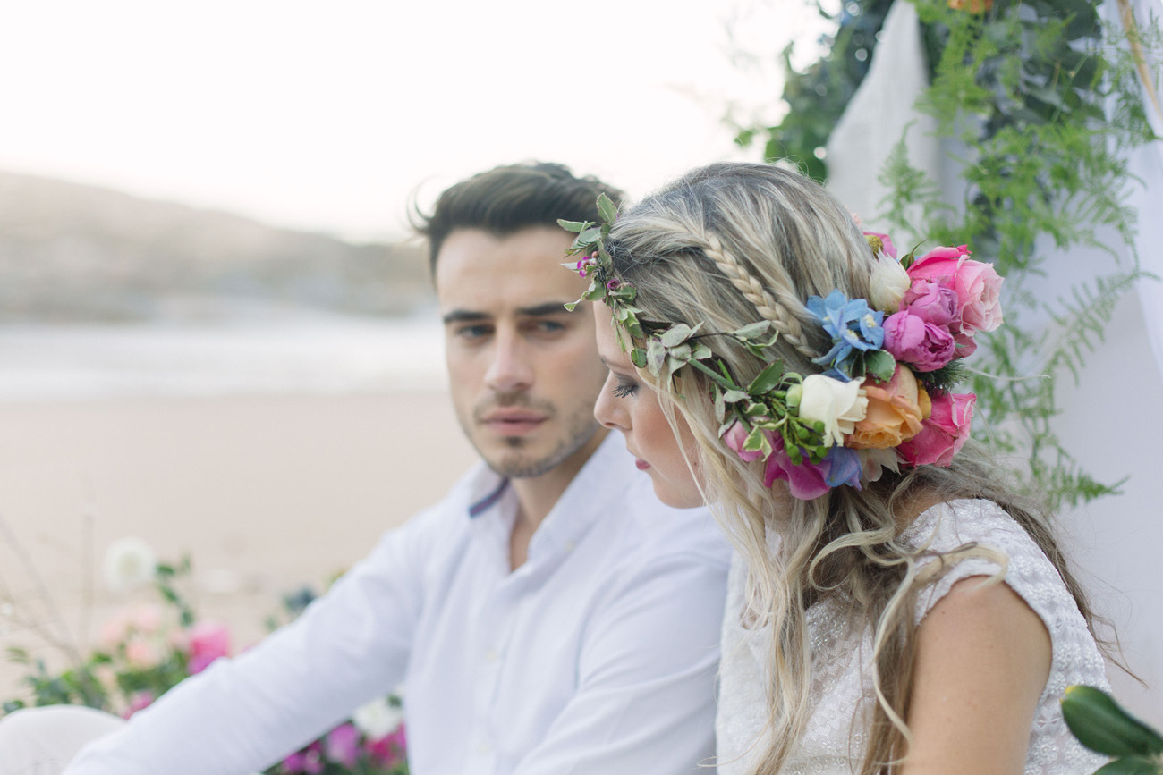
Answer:
M386 529L435 501L475 460L443 392L0 402L0 647L60 662L23 617L51 619L22 554L84 647L102 619L155 600L113 594L100 564L136 536L193 560L188 590L235 648L280 595L316 589ZM2 596L3 590L0 590ZM0 662L0 698L23 668Z

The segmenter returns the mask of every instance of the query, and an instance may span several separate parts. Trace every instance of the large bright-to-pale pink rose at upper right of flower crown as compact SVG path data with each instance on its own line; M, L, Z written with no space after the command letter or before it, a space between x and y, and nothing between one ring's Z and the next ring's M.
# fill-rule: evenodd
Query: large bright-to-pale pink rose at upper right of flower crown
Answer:
M908 277L952 288L957 294L961 331L972 336L1001 325L1001 278L989 264L968 256L965 245L936 247L908 267Z

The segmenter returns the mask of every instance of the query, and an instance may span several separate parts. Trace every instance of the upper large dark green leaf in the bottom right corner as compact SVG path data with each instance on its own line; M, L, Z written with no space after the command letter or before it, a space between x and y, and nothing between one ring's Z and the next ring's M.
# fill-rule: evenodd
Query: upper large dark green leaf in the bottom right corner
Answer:
M1128 713L1111 695L1086 686L1066 688L1062 716L1078 741L1108 756L1163 753L1163 737Z

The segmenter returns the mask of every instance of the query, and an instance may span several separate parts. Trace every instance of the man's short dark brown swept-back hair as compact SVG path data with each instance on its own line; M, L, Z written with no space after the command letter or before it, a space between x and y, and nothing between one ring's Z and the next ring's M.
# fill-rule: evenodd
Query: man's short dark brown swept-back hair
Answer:
M455 229L481 229L505 237L528 227L556 227L557 218L598 221L597 201L602 192L615 204L625 196L597 178L576 178L562 164L506 165L444 189L431 215L418 210L413 225L428 239L428 266L435 275L436 256Z

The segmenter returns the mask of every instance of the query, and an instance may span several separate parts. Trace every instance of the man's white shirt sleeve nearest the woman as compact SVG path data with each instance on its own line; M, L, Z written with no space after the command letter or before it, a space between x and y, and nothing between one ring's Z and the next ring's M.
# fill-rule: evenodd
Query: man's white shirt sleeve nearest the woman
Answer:
M514 775L706 773L726 580L722 558L692 552L613 584L588 626L576 695Z

